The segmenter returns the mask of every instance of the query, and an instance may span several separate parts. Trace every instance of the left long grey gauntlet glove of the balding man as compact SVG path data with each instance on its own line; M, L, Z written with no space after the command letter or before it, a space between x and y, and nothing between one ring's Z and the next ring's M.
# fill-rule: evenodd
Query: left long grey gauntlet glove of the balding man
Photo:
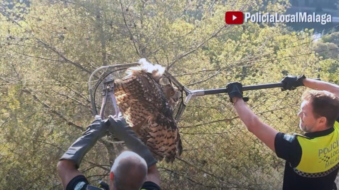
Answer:
M109 125L95 116L94 121L87 127L86 131L79 137L62 155L60 160L72 160L76 169L79 168L83 156L91 149L96 141L107 134Z

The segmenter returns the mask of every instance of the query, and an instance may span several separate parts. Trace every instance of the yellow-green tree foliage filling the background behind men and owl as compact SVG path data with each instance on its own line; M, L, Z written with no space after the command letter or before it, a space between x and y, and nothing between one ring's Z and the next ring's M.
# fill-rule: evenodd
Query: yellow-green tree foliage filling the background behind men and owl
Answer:
M337 57L313 44L312 30L224 23L227 10L286 6L288 0L0 0L0 189L62 189L56 163L92 119L86 81L102 65L146 57L190 89L301 73L338 82ZM335 40L323 42L337 47ZM245 94L263 121L291 133L299 132L302 90ZM182 157L159 163L164 189L281 187L283 161L244 128L226 95L191 100L179 127ZM117 154L110 141L82 161L91 182L108 174Z

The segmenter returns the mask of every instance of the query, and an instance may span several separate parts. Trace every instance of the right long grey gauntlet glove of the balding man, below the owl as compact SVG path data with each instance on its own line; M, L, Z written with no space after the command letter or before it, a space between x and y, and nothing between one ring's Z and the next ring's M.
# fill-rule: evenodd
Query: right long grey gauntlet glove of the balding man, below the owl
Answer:
M126 147L132 152L138 154L143 158L147 167L156 164L156 160L153 155L150 153L148 148L142 143L142 141L137 137L134 131L126 124L123 117L119 116L109 116L108 120L105 121L108 123L109 131L111 131L116 138L125 142Z

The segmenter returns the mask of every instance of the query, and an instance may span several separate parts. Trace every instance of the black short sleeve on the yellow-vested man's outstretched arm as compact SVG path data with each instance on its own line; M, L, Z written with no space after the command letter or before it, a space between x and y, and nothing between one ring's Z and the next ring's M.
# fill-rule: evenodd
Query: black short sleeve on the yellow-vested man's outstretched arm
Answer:
M276 156L289 162L292 167L296 167L299 164L302 150L295 135L276 134L274 148Z

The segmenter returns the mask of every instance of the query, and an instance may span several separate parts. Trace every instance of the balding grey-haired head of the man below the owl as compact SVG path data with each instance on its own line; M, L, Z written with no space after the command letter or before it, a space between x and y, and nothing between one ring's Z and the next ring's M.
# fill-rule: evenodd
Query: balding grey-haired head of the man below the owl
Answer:
M110 169L110 190L139 190L146 175L143 158L130 151L122 152Z

